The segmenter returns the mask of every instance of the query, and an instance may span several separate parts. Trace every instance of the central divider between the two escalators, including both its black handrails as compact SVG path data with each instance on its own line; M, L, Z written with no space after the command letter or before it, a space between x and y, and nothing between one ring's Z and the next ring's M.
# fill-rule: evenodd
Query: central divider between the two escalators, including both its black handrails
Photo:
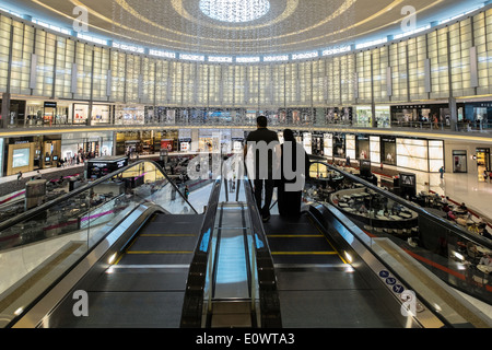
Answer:
M245 182L236 196L224 186L220 197L221 185L212 189L203 224L210 229L190 266L180 327L279 328L273 262L253 192Z

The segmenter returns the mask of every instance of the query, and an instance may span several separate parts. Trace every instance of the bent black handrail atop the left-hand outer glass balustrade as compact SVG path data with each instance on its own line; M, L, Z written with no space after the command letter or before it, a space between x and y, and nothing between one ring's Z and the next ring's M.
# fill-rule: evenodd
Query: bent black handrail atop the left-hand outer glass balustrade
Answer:
M117 175L119 175L119 174L122 174L122 173L125 173L126 171L129 171L129 170L131 170L132 167L134 167L134 166L137 166L137 165L139 165L139 164L143 164L143 163L152 163L152 164L153 164L153 165L154 165L154 166L155 166L155 167L164 175L164 177L167 179L167 182L168 182L172 186L174 186L174 187L176 188L176 190L177 190L177 192L179 194L179 196L181 197L181 199L185 200L185 202L191 208L191 210L192 210L195 213L198 213L197 210L189 203L189 201L188 201L188 200L185 198L185 196L181 194L181 191L180 191L179 188L176 186L176 184L175 184L173 180L169 179L169 177L168 177L167 174L164 172L164 170L161 167L161 165L159 165L159 164L155 163L154 161L141 160L141 161L137 161L137 162L134 162L134 163L131 163L131 164L129 164L129 165L127 165L127 166L125 166L125 167L121 167L120 170L118 170L118 171L116 171L116 172L114 172L114 173L112 173L112 174L108 174L108 175L106 175L106 176L104 176L104 177L101 177L101 178L98 178L98 179L96 179L96 180L94 180L94 182L92 182L92 183L90 183L90 184L87 184L87 185L84 185L84 186L81 186L81 187L79 187L79 188L75 188L74 190L72 190L72 191L70 191L70 192L68 192L68 194L66 194L66 195L63 195L63 196L61 196L61 197L59 197L59 198L57 198L57 199L54 199L54 200L48 201L48 202L46 202L46 203L43 203L43 205L40 205L39 207L33 208L33 209L31 209L31 210L28 210L28 211L25 211L25 212L23 212L23 213L16 215L16 217L14 217L14 218L11 218L11 219L9 219L9 220L2 222L2 223L0 224L0 232L2 232L2 231L4 231L4 230L7 230L7 229L9 229L9 228L11 228L11 226L13 226L13 225L20 223L20 222L23 222L23 221L25 221L25 220L27 220L27 219L34 218L34 217L40 214L42 212L44 212L44 211L46 211L46 210L48 210L48 209L50 209L50 208L52 208L52 207L55 207L55 206L57 206L57 205L63 202L63 201L66 201L66 200L68 200L68 199L70 199L70 198L72 198L72 197L75 197L75 196L78 196L78 195L80 195L80 194L82 194L82 192L85 192L86 190L89 190L89 189L91 189L91 188L94 188L95 186L101 185L101 184L103 184L103 183L105 183L105 182L112 179L113 177L115 177L115 176L117 176Z

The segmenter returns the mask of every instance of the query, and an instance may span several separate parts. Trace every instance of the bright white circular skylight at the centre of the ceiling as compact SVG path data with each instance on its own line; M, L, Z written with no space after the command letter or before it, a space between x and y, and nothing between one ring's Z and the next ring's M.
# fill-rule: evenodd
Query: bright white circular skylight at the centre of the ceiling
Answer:
M230 23L250 22L270 11L268 0L200 0L200 10L209 18Z

